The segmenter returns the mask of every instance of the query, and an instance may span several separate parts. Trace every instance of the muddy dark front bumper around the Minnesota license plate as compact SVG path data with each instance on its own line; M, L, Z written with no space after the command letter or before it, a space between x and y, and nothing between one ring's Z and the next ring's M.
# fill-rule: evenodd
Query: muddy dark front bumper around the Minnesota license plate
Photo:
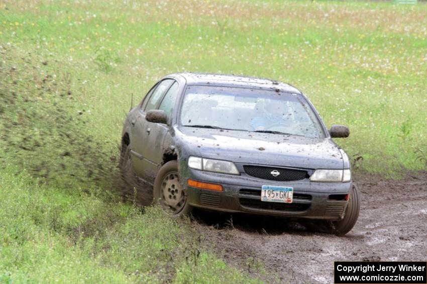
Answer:
M182 183L187 202L204 209L241 212L282 217L340 220L344 217L351 193L352 182L273 181L249 176L229 175L188 169ZM202 190L187 185L187 179L221 184L223 192ZM261 186L293 187L293 202L274 203L261 201Z

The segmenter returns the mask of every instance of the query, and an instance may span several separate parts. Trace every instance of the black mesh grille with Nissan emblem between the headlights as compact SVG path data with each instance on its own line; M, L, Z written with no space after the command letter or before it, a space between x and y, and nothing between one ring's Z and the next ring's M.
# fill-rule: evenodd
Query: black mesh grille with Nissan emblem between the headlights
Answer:
M291 181L301 180L308 178L308 172L301 169L290 169L290 168L278 168L278 167L265 167L265 166L254 166L244 165L245 172L254 177L277 180L277 181ZM279 174L274 176L271 174L272 171L278 171Z

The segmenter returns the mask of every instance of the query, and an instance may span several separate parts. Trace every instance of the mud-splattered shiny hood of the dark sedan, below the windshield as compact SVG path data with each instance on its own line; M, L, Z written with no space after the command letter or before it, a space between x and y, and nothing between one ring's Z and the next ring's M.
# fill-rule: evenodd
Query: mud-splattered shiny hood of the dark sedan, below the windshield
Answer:
M179 126L176 139L202 157L298 168L342 169L343 156L329 138Z

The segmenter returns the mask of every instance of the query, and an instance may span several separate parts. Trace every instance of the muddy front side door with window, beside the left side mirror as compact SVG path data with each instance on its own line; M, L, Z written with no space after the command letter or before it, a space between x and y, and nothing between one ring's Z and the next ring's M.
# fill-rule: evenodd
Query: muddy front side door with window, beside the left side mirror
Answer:
M179 84L177 81L174 81L164 94L158 108L156 108L163 110L168 116L169 121L178 96L178 89ZM164 152L163 140L165 135L168 135L168 132L169 126L167 124L147 122L147 140L143 146L143 155L149 162L146 169L149 182L154 183L154 179L161 166Z

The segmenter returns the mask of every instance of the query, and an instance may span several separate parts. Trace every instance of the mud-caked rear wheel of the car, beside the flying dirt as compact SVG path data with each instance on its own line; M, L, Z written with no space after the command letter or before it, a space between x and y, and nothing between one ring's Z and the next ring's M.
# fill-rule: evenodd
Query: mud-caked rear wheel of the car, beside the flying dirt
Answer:
M152 195L149 195L147 186L134 173L130 145L122 145L119 168L122 181L119 186L121 194L131 201L138 202L140 205L149 204Z

